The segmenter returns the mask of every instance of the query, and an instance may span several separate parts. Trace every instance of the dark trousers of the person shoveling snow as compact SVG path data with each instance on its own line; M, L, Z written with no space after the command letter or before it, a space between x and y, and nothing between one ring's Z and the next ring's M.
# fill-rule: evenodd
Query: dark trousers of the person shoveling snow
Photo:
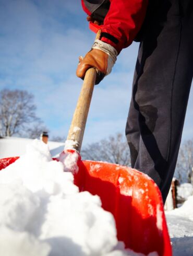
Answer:
M165 202L193 75L193 0L162 0L157 7L143 27L126 137L132 168L158 184Z

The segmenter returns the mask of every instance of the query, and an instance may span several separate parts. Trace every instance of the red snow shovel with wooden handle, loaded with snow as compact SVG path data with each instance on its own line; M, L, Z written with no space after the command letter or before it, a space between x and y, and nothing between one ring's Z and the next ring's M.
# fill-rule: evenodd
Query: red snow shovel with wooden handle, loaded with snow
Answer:
M67 137L76 142L74 150L67 149L64 155L80 152L95 78L95 69L90 68ZM0 159L0 170L16 159ZM114 215L117 238L124 241L126 248L144 254L155 251L159 256L172 255L162 196L152 179L135 169L106 162L79 158L77 164L75 184L80 191L100 196L104 210Z

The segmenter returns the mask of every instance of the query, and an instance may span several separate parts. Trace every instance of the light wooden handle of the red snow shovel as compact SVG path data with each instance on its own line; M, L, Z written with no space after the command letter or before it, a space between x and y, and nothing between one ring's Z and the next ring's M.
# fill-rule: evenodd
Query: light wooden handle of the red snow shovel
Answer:
M100 37L100 30L96 34L96 38ZM92 92L94 89L96 79L95 69L89 68L86 72L84 82L80 91L77 106L71 121L70 129L67 136L67 141L74 141L74 149L80 152L83 134L85 132L85 126L87 122L88 112L90 108L90 102L92 99Z

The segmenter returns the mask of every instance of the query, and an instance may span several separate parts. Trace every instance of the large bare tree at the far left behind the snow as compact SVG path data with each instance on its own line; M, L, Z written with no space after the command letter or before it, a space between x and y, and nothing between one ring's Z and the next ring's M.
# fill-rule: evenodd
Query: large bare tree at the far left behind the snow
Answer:
M33 100L33 95L26 90L0 91L0 136L20 135L32 122L40 122Z

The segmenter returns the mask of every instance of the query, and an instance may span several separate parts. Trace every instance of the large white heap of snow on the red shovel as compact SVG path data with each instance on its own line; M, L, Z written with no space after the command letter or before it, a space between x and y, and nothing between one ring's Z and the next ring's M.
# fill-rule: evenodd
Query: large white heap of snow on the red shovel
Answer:
M69 167L77 158L63 160ZM35 140L0 172L0 255L142 256L124 249L112 214L98 196L79 193L65 168Z

